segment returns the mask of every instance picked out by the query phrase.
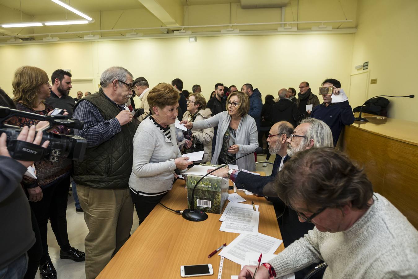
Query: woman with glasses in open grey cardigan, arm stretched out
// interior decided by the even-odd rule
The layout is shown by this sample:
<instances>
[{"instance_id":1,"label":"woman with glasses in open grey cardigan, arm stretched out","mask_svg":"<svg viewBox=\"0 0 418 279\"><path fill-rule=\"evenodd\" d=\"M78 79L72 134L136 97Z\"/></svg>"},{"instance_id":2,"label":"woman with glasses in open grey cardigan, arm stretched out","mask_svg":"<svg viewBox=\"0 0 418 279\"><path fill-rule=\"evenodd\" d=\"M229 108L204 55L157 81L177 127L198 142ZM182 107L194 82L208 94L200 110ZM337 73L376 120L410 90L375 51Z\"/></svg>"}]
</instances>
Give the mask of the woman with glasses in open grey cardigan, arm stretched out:
<instances>
[{"instance_id":1,"label":"woman with glasses in open grey cardigan, arm stretched out","mask_svg":"<svg viewBox=\"0 0 418 279\"><path fill-rule=\"evenodd\" d=\"M186 128L204 129L218 126L216 146L212 154L212 164L226 164L258 147L257 126L248 111L250 99L243 92L233 92L227 98L227 111L211 118L196 122L183 120ZM222 144L221 144L222 143ZM255 158L252 155L238 159L241 169L255 171Z\"/></svg>"}]
</instances>

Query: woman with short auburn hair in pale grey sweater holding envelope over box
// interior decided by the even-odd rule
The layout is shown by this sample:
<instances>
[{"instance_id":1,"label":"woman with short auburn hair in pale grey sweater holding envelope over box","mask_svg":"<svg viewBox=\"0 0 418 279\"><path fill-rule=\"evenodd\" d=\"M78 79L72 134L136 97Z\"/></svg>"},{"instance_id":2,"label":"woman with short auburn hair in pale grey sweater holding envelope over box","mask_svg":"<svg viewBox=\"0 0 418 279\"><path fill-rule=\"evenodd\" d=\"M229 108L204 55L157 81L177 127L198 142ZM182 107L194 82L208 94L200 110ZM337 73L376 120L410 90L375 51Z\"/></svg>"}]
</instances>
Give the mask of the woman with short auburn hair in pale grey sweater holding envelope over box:
<instances>
[{"instance_id":1,"label":"woman with short auburn hair in pale grey sweater holding envelope over box","mask_svg":"<svg viewBox=\"0 0 418 279\"><path fill-rule=\"evenodd\" d=\"M178 92L161 83L147 96L151 116L145 118L133 138L133 165L129 178L131 197L139 224L171 190L175 169L186 169L192 162L181 157L174 122L178 115Z\"/></svg>"}]
</instances>

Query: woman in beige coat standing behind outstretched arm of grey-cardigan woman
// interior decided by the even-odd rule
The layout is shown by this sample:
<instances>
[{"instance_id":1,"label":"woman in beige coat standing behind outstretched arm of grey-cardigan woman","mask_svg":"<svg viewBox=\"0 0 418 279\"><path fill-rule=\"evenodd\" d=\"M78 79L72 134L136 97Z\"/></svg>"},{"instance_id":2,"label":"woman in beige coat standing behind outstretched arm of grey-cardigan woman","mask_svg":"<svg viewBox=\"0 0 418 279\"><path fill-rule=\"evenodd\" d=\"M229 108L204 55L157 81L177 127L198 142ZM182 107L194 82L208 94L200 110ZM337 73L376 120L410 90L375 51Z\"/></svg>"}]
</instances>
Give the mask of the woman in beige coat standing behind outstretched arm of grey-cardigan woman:
<instances>
[{"instance_id":1,"label":"woman in beige coat standing behind outstretched arm of grey-cardigan woman","mask_svg":"<svg viewBox=\"0 0 418 279\"><path fill-rule=\"evenodd\" d=\"M187 111L183 115L183 119L194 122L202 119L208 119L212 115L212 111L206 108L206 99L200 93L189 95L187 100ZM191 130L192 137L203 143L204 154L201 161L195 163L206 163L212 159L212 138L214 135L213 128L194 129Z\"/></svg>"}]
</instances>

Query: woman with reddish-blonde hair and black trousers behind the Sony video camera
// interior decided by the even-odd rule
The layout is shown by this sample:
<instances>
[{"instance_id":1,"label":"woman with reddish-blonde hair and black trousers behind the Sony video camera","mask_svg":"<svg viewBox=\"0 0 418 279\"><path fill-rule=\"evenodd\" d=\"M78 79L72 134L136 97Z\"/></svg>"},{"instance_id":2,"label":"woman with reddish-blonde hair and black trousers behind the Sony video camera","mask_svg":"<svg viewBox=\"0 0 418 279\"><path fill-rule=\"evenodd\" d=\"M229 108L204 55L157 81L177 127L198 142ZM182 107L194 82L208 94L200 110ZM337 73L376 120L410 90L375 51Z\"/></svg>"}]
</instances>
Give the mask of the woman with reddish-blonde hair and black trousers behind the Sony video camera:
<instances>
[{"instance_id":1,"label":"woman with reddish-blonde hair and black trousers behind the Sony video camera","mask_svg":"<svg viewBox=\"0 0 418 279\"><path fill-rule=\"evenodd\" d=\"M45 71L37 67L23 66L16 70L13 78L13 101L16 108L29 113L47 115L53 111L44 100L51 95L51 84ZM19 127L36 125L39 121L23 117L13 117L9 124ZM52 133L69 134L63 125ZM24 177L23 186L28 192L28 199L38 222L41 233L43 255L39 261L42 278L56 277L56 270L48 254L48 219L61 248L61 259L84 261L85 253L70 246L67 233L66 210L70 188L71 159L61 158L51 162L48 159L34 163L37 179Z\"/></svg>"}]
</instances>

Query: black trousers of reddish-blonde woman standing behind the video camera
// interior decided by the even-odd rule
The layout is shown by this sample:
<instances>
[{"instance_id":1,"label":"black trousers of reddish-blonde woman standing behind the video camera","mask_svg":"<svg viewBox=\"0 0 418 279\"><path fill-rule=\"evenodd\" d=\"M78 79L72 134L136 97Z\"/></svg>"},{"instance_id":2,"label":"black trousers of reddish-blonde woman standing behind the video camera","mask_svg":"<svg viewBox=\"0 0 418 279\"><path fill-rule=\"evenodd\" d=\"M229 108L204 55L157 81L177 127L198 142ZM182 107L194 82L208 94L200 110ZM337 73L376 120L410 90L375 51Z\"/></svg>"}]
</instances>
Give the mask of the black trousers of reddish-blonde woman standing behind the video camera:
<instances>
[{"instance_id":1,"label":"black trousers of reddish-blonde woman standing behind the video camera","mask_svg":"<svg viewBox=\"0 0 418 279\"><path fill-rule=\"evenodd\" d=\"M38 222L41 233L43 255L40 263L49 260L48 255L48 219L51 218L51 228L55 234L56 241L63 251L68 251L71 246L67 233L67 203L70 189L70 177L55 182L46 189L43 189L43 198L39 202L29 202Z\"/></svg>"}]
</instances>

